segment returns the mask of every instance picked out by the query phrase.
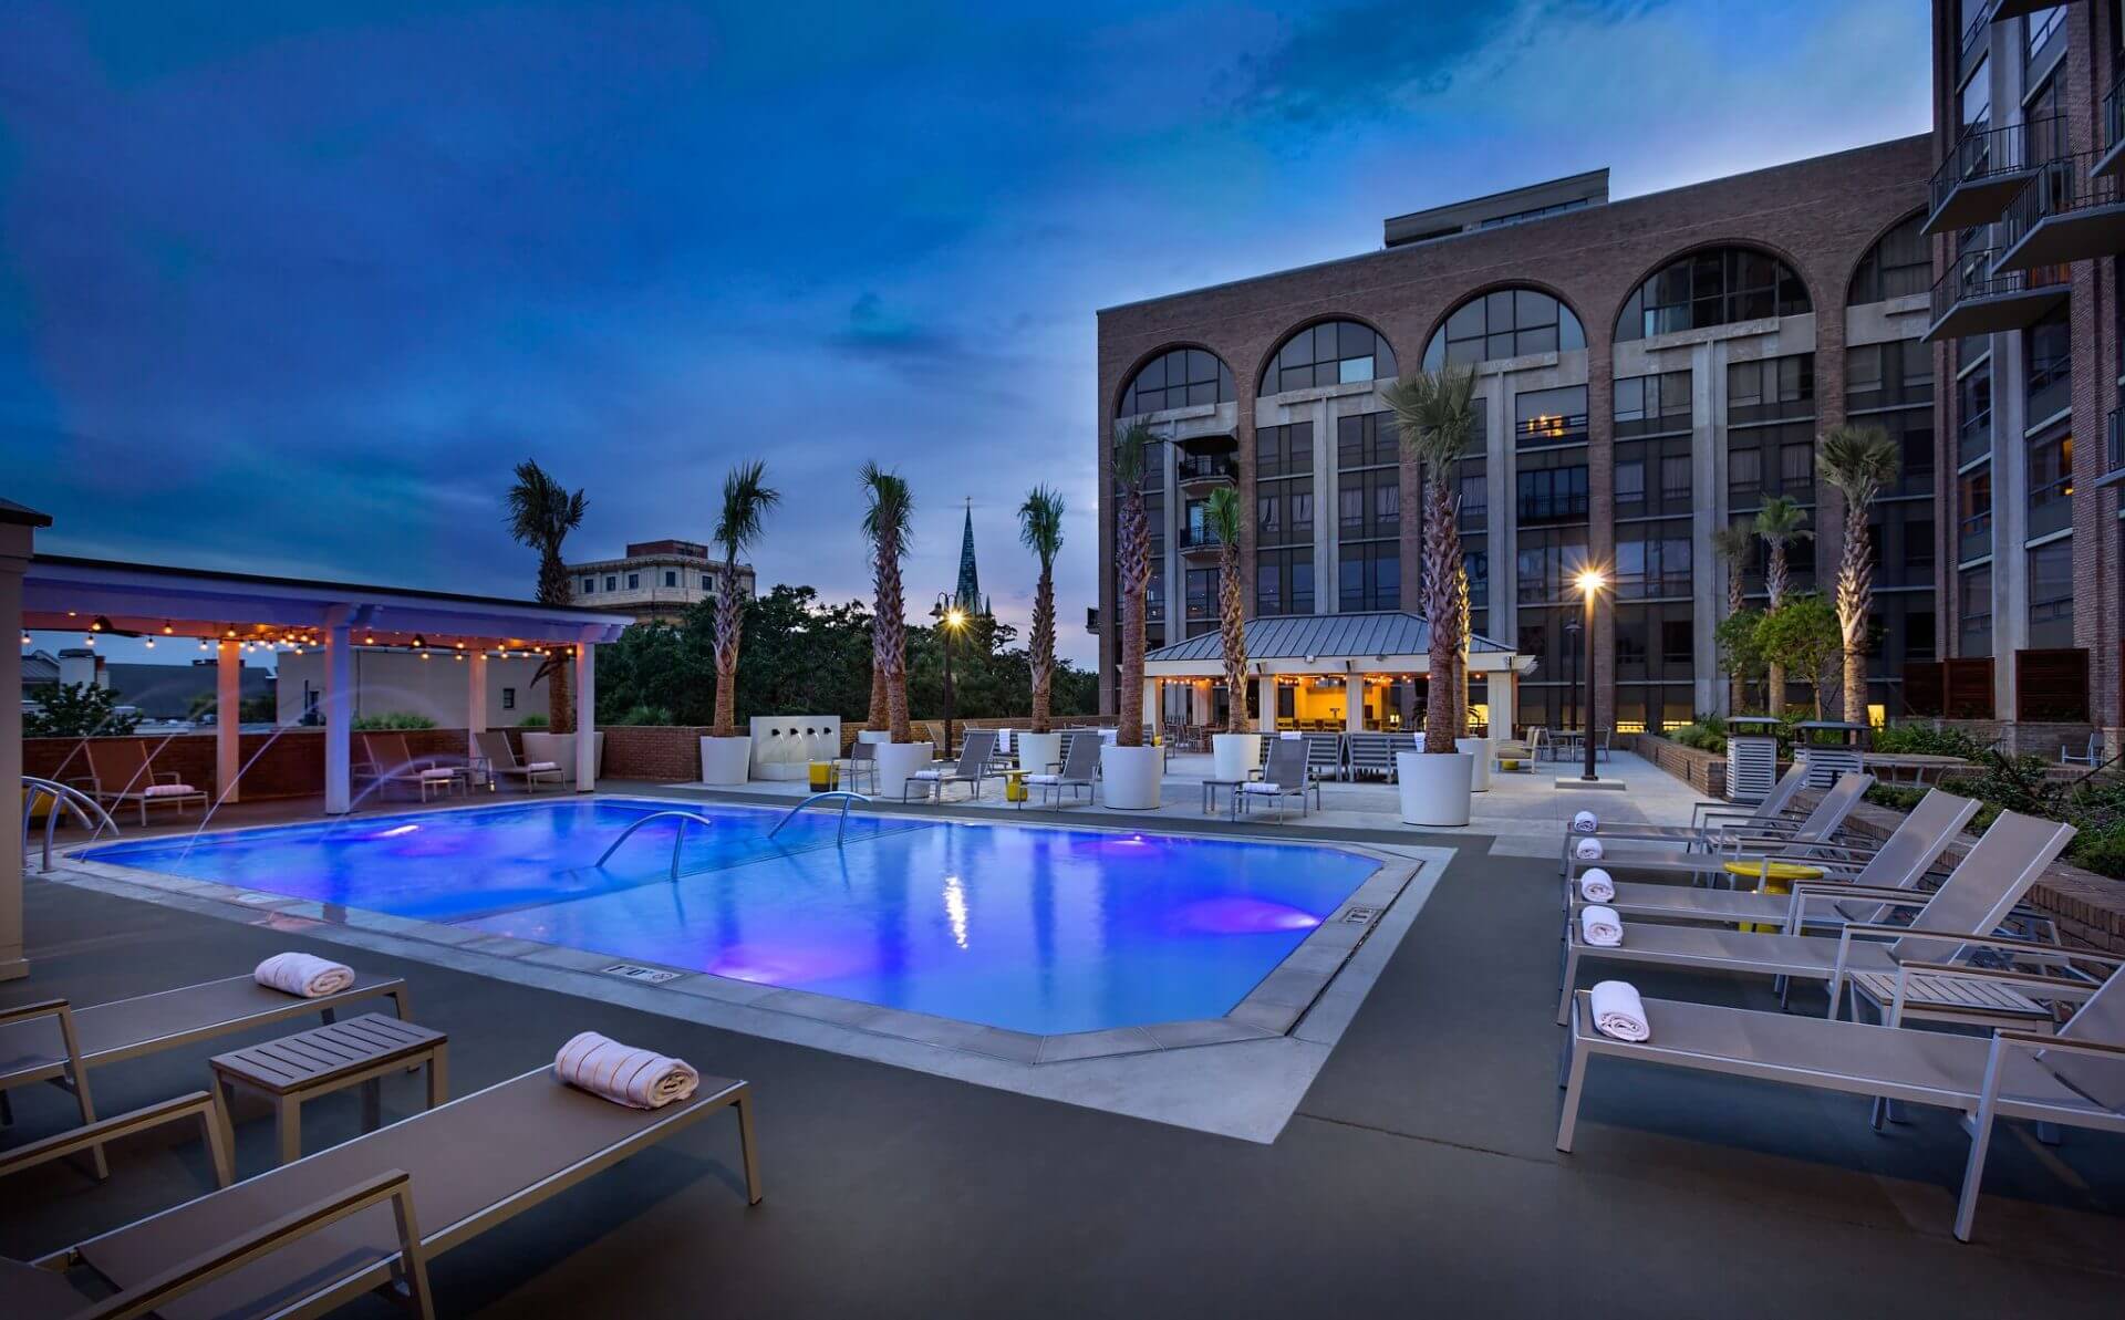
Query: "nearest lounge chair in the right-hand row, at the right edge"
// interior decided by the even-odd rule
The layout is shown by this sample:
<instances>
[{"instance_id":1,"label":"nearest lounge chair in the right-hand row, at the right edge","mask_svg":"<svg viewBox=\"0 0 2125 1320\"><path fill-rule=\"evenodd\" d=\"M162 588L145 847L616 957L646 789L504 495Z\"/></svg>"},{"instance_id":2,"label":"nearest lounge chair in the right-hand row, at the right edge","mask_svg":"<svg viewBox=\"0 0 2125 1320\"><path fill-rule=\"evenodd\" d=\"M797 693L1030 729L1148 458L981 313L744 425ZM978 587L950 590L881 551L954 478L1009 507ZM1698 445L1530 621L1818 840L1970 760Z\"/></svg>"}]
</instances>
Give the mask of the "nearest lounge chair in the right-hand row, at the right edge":
<instances>
[{"instance_id":1,"label":"nearest lounge chair in the right-hand row, at the right edge","mask_svg":"<svg viewBox=\"0 0 2125 1320\"><path fill-rule=\"evenodd\" d=\"M1998 980L1991 974L1976 980L1987 978ZM2017 984L2036 993L2072 993L2063 984L2046 984L2046 978L2021 976ZM1876 1129L1885 1116L1881 1101L1940 1105L1961 1112L1970 1129L1970 1158L1955 1201L1955 1237L1970 1241L1985 1152L1998 1120L2125 1131L2121 974L2112 974L2057 1035L2000 1031L1987 1039L1672 999L1647 999L1645 1020L1647 1039L1621 1042L1596 1031L1585 991L1572 999L1558 1150L1572 1150L1587 1061L1594 1056L1874 1097Z\"/></svg>"}]
</instances>

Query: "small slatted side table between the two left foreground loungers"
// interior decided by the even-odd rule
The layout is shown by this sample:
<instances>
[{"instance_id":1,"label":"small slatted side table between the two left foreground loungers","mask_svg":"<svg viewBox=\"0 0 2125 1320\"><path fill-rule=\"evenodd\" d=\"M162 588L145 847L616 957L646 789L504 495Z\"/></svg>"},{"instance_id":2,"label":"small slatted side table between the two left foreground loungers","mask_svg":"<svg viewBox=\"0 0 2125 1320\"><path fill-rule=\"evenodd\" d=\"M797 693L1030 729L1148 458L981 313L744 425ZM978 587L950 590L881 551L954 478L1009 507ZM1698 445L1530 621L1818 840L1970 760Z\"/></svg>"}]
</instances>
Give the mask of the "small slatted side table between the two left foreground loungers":
<instances>
[{"instance_id":1,"label":"small slatted side table between the two left foreground loungers","mask_svg":"<svg viewBox=\"0 0 2125 1320\"><path fill-rule=\"evenodd\" d=\"M227 1112L246 1086L274 1101L283 1165L302 1158L302 1101L361 1086L361 1131L382 1122L382 1076L427 1065L427 1107L450 1099L450 1037L382 1014L283 1035L261 1046L215 1054L215 1086Z\"/></svg>"}]
</instances>

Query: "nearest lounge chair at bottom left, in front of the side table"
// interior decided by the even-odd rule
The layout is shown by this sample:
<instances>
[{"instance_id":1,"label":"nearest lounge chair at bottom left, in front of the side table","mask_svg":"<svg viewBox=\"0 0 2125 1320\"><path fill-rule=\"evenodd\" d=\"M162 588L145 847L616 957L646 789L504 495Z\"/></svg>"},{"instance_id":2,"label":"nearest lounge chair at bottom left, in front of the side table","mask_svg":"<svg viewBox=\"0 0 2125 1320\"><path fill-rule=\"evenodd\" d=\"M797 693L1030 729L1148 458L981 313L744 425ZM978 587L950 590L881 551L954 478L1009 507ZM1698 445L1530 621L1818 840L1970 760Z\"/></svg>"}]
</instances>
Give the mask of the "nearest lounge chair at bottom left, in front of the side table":
<instances>
[{"instance_id":1,"label":"nearest lounge chair at bottom left, in front of the side table","mask_svg":"<svg viewBox=\"0 0 2125 1320\"><path fill-rule=\"evenodd\" d=\"M746 1082L701 1078L691 1099L629 1110L540 1067L53 1252L38 1271L8 1267L0 1282L11 1286L8 1314L23 1320L147 1309L170 1320L321 1316L393 1284L419 1316L434 1316L431 1258L722 1107L737 1110L746 1201L759 1205ZM119 1299L91 1309L64 1277L74 1269L119 1288Z\"/></svg>"}]
</instances>

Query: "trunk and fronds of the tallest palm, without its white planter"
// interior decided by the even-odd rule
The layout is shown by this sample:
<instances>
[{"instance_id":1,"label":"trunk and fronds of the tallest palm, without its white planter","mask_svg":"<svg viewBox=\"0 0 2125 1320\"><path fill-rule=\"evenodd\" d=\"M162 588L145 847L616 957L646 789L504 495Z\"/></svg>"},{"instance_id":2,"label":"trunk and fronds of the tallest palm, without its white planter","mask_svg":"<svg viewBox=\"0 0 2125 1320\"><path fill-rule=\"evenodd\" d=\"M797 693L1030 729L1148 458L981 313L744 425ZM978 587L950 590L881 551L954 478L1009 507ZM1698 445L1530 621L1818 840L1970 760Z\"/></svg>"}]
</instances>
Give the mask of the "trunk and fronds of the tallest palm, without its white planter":
<instances>
[{"instance_id":1,"label":"trunk and fronds of the tallest palm, without its white planter","mask_svg":"<svg viewBox=\"0 0 2125 1320\"><path fill-rule=\"evenodd\" d=\"M1402 453L1424 472L1424 619L1430 625L1430 682L1424 701L1424 750L1451 752L1454 676L1460 661L1462 585L1454 466L1475 434L1475 372L1417 372L1381 395L1402 434Z\"/></svg>"}]
</instances>

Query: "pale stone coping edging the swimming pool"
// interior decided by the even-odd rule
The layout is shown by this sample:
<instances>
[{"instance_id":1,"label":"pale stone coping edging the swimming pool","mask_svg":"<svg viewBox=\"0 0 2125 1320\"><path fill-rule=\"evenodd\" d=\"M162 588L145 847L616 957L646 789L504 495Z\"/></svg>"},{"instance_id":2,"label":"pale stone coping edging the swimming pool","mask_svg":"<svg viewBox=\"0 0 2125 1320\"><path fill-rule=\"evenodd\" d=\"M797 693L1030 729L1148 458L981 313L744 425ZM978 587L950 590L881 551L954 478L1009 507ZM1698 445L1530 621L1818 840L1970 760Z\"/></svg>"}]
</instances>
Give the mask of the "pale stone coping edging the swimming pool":
<instances>
[{"instance_id":1,"label":"pale stone coping edging the swimming pool","mask_svg":"<svg viewBox=\"0 0 2125 1320\"><path fill-rule=\"evenodd\" d=\"M576 797L574 801L642 801L657 806L688 806L688 803L703 806L699 797L657 797L648 793L599 793L595 797L582 795ZM512 801L465 803L455 808L442 808L442 812L495 810L508 806L525 806L525 801L512 799ZM750 801L731 801L729 806L759 810L756 803ZM436 812L421 812L421 814L425 816ZM391 816L389 814L378 816L376 820L382 818ZM876 818L903 818L903 816L890 812L890 814L876 814ZM1012 827L1009 820L994 820L992 816L980 816L980 814L924 812L920 818L950 823L950 825ZM249 827L219 829L210 833L215 835L259 833L259 831L291 829L302 825L304 823L249 825ZM593 974L627 984L654 986L657 991L663 993L710 999L729 1008L788 1014L795 1018L846 1031L856 1031L863 1035L878 1035L944 1050L984 1054L1005 1063L1048 1065L1048 1063L1082 1063L1088 1059L1114 1059L1126 1054L1150 1054L1150 1052L1196 1048L1196 1046L1269 1042L1292 1035L1292 1031L1298 1027L1305 1014L1322 999L1322 995L1337 980L1337 976L1343 971L1349 959L1373 935L1373 931L1379 927L1388 910L1396 903L1396 899L1409 889L1411 880L1415 880L1415 876L1426 865L1422 859L1400 857L1366 844L1305 837L1305 835L1294 835L1288 840L1243 835L1241 840L1232 833L1222 833L1222 831L1190 831L1182 827L1145 829L1141 825L1101 825L1096 820L1086 820L1084 825L1077 823L1054 825L1043 820L1039 825L1031 823L1020 825L1020 829L1067 829L1080 833L1109 833L1109 835L1158 833L1169 837L1211 837L1220 842L1250 842L1271 848L1328 848L1337 852L1349 852L1354 857L1364 857L1373 861L1375 867L1373 874L1366 876L1358 884L1358 889L1354 889L1349 897L1334 908L1330 916L1322 918L1322 923L1313 927L1313 931L1305 940L1300 940L1298 946L1292 948L1279 963L1275 963L1269 969L1269 974L1262 976L1262 980L1256 982L1256 986L1247 991L1245 997L1241 997L1239 1003L1226 1010L1224 1016L1182 1018L1173 1022L1152 1022L1139 1027L1105 1027L1096 1031L1069 1031L1052 1035L1012 1031L1007 1027L965 1022L958 1018L941 1018L901 1008L865 1003L858 999L839 999L833 995L820 995L816 991L763 986L759 982L725 978L693 967L674 967L669 963L652 963L652 961L631 959L625 954L601 954L565 944L544 944L538 940L523 940L516 935L489 935L446 923L391 916L366 908L323 903L317 899L276 895L257 889L242 889L234 884L221 884L217 880L193 880L187 876L172 876L166 871L128 867L81 857L81 852L94 848L110 848L119 844L83 844L70 848L66 852L66 867L98 880L119 882L151 893L181 897L193 903L208 903L221 908L219 912L221 916L259 920L264 914L272 914L283 920L304 920L323 927L342 927L346 931L368 931L376 935L442 946L448 950L529 963L546 969Z\"/></svg>"}]
</instances>

